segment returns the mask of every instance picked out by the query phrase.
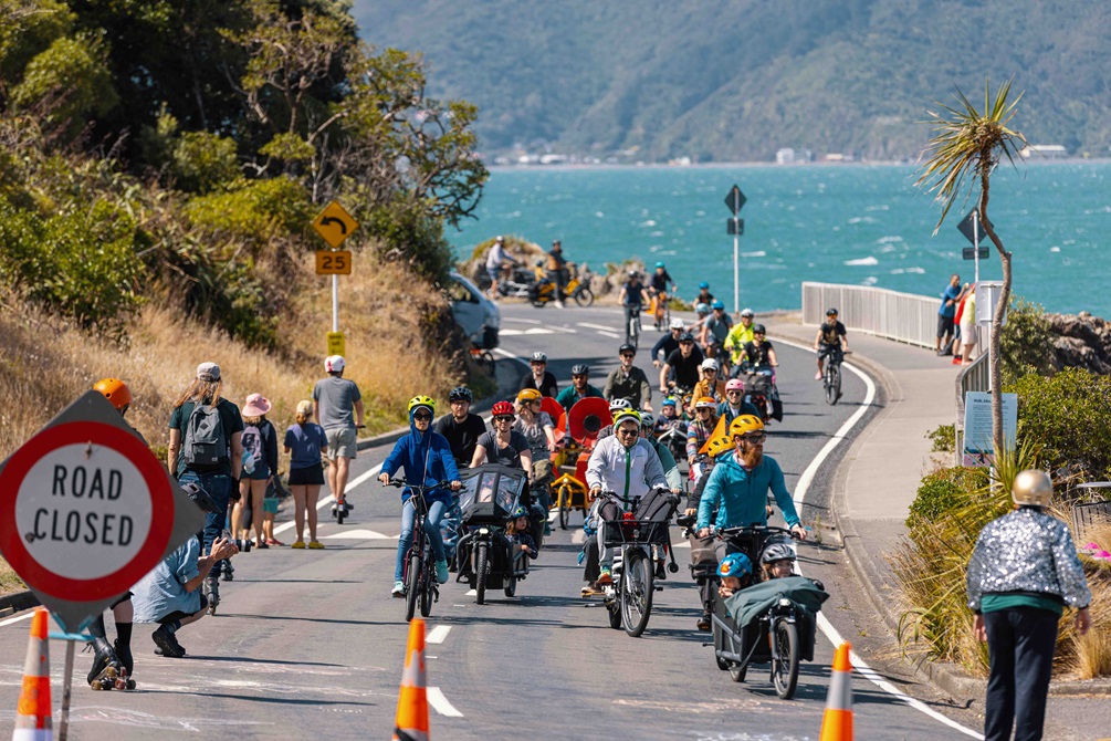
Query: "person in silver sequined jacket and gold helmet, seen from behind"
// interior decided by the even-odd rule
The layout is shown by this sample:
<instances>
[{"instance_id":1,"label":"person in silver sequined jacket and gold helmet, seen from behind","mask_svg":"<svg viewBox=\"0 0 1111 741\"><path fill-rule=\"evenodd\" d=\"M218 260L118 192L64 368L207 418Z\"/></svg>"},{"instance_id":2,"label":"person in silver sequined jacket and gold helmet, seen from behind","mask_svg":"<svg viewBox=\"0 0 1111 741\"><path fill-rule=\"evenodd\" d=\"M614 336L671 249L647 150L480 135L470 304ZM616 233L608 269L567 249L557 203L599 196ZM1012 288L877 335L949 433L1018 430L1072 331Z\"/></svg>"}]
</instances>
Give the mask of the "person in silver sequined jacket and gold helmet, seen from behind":
<instances>
[{"instance_id":1,"label":"person in silver sequined jacket and gold helmet, seen from behind","mask_svg":"<svg viewBox=\"0 0 1111 741\"><path fill-rule=\"evenodd\" d=\"M985 741L1042 738L1058 621L1075 608L1077 632L1091 628L1083 567L1069 528L1044 512L1053 483L1042 471L1022 471L1011 488L1015 511L980 532L968 570L969 608L977 638L988 642L991 673Z\"/></svg>"}]
</instances>

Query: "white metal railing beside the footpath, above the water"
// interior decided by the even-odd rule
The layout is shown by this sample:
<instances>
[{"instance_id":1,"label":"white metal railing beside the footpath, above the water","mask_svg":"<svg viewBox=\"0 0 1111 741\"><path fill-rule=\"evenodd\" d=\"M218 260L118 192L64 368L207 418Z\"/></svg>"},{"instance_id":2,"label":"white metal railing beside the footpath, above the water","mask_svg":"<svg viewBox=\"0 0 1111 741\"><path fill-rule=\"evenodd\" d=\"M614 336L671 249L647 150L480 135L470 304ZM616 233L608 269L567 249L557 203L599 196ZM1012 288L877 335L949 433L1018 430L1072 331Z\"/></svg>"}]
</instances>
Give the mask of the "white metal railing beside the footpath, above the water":
<instances>
[{"instance_id":1,"label":"white metal railing beside the footpath, above the water","mask_svg":"<svg viewBox=\"0 0 1111 741\"><path fill-rule=\"evenodd\" d=\"M802 323L821 324L825 321L825 310L831 307L838 310L838 318L844 326L854 332L923 348L937 344L940 296L933 299L867 286L802 284Z\"/></svg>"}]
</instances>

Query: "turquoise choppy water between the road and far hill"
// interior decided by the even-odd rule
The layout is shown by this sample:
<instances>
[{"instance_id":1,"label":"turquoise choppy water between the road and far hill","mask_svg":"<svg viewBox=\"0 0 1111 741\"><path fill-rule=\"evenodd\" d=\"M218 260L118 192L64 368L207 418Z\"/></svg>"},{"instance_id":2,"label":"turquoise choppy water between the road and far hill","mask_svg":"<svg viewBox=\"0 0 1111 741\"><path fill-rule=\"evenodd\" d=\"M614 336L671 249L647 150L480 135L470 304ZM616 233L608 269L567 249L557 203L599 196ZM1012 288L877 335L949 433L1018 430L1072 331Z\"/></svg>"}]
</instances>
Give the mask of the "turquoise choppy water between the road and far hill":
<instances>
[{"instance_id":1,"label":"turquoise choppy water between the road and far hill","mask_svg":"<svg viewBox=\"0 0 1111 741\"><path fill-rule=\"evenodd\" d=\"M940 296L970 244L953 206L937 236L940 207L913 187L911 166L733 166L496 170L478 220L449 234L460 257L494 234L517 234L601 269L630 257L657 260L690 298L701 280L732 308L733 238L724 198L737 183L741 211L741 304L758 311L800 307L802 281L878 286ZM1015 292L1049 311L1111 317L1111 163L1003 166L992 178L988 214L1014 253ZM991 251L982 280L1001 278Z\"/></svg>"}]
</instances>

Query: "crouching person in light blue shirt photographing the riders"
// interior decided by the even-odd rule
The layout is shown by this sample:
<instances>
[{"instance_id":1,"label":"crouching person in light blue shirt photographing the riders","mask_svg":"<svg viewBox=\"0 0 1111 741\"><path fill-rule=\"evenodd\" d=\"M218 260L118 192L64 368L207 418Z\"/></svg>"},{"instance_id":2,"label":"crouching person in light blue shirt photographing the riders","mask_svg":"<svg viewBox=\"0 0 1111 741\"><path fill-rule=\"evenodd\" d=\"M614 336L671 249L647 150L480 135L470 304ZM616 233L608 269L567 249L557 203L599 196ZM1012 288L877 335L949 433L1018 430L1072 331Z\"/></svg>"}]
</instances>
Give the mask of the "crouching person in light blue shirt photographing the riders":
<instances>
[{"instance_id":1,"label":"crouching person in light blue shirt photographing the riders","mask_svg":"<svg viewBox=\"0 0 1111 741\"><path fill-rule=\"evenodd\" d=\"M181 487L201 511L219 512L219 507L208 492L196 483ZM134 605L134 622L157 622L160 627L151 634L158 645L154 653L173 659L186 655L178 642L177 631L183 625L197 622L208 610L208 598L201 585L219 561L239 552L236 541L227 535L216 539L209 555L201 555L201 543L190 538L176 551L159 561L142 580L132 588L131 603Z\"/></svg>"}]
</instances>

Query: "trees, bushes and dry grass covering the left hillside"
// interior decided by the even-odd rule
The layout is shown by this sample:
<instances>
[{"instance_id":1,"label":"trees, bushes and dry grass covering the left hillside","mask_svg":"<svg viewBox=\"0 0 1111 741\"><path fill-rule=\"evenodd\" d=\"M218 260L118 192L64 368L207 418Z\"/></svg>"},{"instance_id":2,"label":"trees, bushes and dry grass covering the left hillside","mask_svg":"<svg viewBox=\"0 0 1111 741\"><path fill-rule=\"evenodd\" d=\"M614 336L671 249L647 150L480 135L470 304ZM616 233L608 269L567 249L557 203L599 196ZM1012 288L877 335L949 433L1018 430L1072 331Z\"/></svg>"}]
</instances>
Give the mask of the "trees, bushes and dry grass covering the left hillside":
<instances>
[{"instance_id":1,"label":"trees, bushes and dry grass covering the left hillside","mask_svg":"<svg viewBox=\"0 0 1111 741\"><path fill-rule=\"evenodd\" d=\"M361 43L339 0L0 0L0 454L98 378L164 442L196 366L284 425L322 375L329 279L310 222L361 223L340 278L369 423L464 372L438 290L446 226L487 171L476 109ZM414 370L398 377L399 353Z\"/></svg>"}]
</instances>

